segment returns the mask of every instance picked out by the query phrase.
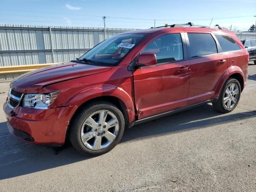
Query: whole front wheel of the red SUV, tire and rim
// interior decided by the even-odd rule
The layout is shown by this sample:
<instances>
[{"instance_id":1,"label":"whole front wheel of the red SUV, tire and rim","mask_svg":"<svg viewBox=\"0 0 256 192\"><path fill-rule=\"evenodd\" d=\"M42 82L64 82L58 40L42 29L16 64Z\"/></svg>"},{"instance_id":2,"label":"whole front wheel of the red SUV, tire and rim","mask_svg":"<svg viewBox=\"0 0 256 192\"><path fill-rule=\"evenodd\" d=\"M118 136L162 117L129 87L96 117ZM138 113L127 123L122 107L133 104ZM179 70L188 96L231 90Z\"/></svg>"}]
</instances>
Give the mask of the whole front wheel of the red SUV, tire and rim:
<instances>
[{"instance_id":1,"label":"whole front wheel of the red SUV, tire and rim","mask_svg":"<svg viewBox=\"0 0 256 192\"><path fill-rule=\"evenodd\" d=\"M124 116L110 102L94 102L79 110L70 125L70 141L84 155L109 152L121 140Z\"/></svg>"}]
</instances>

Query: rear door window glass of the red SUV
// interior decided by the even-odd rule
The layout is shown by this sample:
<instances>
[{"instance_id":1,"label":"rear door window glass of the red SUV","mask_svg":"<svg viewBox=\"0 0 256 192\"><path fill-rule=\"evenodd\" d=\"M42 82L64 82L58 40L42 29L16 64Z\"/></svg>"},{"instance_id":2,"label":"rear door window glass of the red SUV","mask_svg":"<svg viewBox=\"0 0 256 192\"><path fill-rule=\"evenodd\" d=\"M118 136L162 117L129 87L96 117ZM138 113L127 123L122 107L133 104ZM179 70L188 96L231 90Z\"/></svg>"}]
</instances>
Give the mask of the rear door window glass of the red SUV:
<instances>
[{"instance_id":1,"label":"rear door window glass of the red SUV","mask_svg":"<svg viewBox=\"0 0 256 192\"><path fill-rule=\"evenodd\" d=\"M217 53L214 38L208 33L188 33L191 57Z\"/></svg>"}]
</instances>

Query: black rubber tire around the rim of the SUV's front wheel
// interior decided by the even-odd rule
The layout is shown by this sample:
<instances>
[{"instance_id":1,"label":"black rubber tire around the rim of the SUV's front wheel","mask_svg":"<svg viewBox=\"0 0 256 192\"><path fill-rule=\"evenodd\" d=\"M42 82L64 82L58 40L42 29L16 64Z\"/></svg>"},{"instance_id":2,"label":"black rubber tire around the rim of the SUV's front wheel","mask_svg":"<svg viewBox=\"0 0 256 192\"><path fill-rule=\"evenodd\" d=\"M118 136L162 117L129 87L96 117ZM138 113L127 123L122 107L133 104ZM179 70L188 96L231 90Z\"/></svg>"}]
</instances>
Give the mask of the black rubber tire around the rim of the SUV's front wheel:
<instances>
[{"instance_id":1,"label":"black rubber tire around the rim of the SUV's front wheel","mask_svg":"<svg viewBox=\"0 0 256 192\"><path fill-rule=\"evenodd\" d=\"M83 144L80 132L86 118L98 110L108 110L112 112L118 119L119 130L115 140L109 146L100 150L91 150ZM117 106L107 101L97 101L84 106L76 112L70 124L69 139L74 148L81 154L86 156L98 156L109 152L118 144L124 133L124 126L124 116Z\"/></svg>"}]
</instances>

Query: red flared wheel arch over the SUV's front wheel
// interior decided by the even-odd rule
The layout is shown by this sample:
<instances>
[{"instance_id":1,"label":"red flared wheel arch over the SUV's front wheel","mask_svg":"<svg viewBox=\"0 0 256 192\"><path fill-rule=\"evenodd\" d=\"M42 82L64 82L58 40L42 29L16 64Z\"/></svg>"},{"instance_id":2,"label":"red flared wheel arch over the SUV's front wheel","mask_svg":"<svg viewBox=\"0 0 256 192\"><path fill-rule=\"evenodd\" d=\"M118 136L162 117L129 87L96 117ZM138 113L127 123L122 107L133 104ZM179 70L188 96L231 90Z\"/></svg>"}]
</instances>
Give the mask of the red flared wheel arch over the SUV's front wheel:
<instances>
[{"instance_id":1,"label":"red flared wheel arch over the SUV's front wheel","mask_svg":"<svg viewBox=\"0 0 256 192\"><path fill-rule=\"evenodd\" d=\"M110 85L110 84L103 84L103 85L93 85L90 87L86 87L73 96L71 96L66 103L65 106L80 106L84 102L101 97L101 96L113 96L116 97L125 104L129 122L133 122L135 120L135 110L134 110L134 103L133 99L124 89Z\"/></svg>"}]
</instances>

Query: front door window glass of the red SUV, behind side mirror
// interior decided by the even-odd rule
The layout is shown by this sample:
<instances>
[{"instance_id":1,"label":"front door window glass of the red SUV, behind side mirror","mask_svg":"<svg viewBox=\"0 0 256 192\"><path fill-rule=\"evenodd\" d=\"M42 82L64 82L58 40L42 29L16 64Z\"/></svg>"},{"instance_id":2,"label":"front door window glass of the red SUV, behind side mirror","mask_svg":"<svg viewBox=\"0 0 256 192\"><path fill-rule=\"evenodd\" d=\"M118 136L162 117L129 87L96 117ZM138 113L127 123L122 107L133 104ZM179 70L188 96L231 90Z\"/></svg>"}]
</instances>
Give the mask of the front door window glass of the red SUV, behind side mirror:
<instances>
[{"instance_id":1,"label":"front door window glass of the red SUV, behind side mirror","mask_svg":"<svg viewBox=\"0 0 256 192\"><path fill-rule=\"evenodd\" d=\"M156 54L157 63L183 59L183 48L180 34L163 35L148 44L141 53Z\"/></svg>"}]
</instances>

